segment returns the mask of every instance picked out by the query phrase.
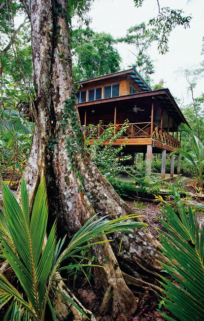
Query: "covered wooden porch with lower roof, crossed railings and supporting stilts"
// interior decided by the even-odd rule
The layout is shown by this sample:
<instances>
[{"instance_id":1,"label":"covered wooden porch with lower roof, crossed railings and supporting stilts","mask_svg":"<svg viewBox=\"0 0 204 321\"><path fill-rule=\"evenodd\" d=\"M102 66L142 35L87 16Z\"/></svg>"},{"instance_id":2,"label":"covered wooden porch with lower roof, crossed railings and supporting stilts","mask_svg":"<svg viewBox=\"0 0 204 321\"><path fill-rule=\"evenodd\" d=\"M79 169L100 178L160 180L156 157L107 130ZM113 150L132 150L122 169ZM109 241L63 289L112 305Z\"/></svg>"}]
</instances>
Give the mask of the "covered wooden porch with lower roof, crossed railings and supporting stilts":
<instances>
[{"instance_id":1,"label":"covered wooden porch with lower roof, crossed railings and supporting stilts","mask_svg":"<svg viewBox=\"0 0 204 321\"><path fill-rule=\"evenodd\" d=\"M153 153L162 154L162 177L165 177L166 153L180 147L178 126L186 120L168 89L135 93L78 104L82 129L88 144L93 144L107 127L111 135L103 145L125 145L129 152L145 154L147 173L151 173ZM128 123L128 124L127 124ZM117 134L121 131L120 135ZM115 139L113 139L115 137ZM172 156L173 176L174 156ZM177 173L180 171L180 159Z\"/></svg>"}]
</instances>

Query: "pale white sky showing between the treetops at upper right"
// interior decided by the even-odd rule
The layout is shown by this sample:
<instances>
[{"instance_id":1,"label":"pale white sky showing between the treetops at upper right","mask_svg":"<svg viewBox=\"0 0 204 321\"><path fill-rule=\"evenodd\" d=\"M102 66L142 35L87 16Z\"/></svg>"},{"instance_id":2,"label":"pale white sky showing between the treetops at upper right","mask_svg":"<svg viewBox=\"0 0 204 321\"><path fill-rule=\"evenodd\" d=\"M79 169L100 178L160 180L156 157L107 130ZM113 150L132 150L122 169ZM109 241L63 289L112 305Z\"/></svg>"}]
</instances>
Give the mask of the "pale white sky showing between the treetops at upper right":
<instances>
[{"instance_id":1,"label":"pale white sky showing between the treetops at upper right","mask_svg":"<svg viewBox=\"0 0 204 321\"><path fill-rule=\"evenodd\" d=\"M190 102L187 94L187 83L179 69L190 68L204 60L201 55L202 39L204 36L204 0L160 0L161 6L183 9L185 15L192 14L190 29L176 27L169 38L169 52L159 54L157 44L149 50L154 60L155 74L153 80L158 83L164 79L165 87L172 95L181 99L184 104ZM158 13L156 0L145 0L141 8L136 8L134 0L95 0L89 15L92 18L90 27L95 32L109 33L115 38L125 36L131 26L148 23L149 19ZM122 57L121 70L128 69L134 62L130 52L134 48L127 44L117 44ZM195 95L204 92L204 78L198 82Z\"/></svg>"}]
</instances>

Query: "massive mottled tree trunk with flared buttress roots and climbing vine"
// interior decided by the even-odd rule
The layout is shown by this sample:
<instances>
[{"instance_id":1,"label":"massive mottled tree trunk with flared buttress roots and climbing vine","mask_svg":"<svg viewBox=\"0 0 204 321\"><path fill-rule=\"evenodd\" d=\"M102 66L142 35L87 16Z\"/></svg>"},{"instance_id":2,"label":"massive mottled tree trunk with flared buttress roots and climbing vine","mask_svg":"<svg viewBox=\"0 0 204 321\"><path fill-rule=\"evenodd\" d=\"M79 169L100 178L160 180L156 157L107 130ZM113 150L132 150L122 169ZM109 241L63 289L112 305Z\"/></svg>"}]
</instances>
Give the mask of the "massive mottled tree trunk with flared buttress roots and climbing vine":
<instances>
[{"instance_id":1,"label":"massive mottled tree trunk with flared buttress roots and climbing vine","mask_svg":"<svg viewBox=\"0 0 204 321\"><path fill-rule=\"evenodd\" d=\"M30 1L37 110L24 177L31 207L40 177L46 177L50 214L53 218L59 214L63 232L71 237L95 213L113 218L129 214L130 209L84 151L77 106L72 99L67 10L67 0ZM112 316L112 320L118 320L119 314L132 315L137 307L114 252L139 278L153 276L160 269L158 243L146 229L124 236L118 254L120 241L118 233L112 247L109 243L94 247L104 266L97 274L97 283L103 289L101 313Z\"/></svg>"}]
</instances>

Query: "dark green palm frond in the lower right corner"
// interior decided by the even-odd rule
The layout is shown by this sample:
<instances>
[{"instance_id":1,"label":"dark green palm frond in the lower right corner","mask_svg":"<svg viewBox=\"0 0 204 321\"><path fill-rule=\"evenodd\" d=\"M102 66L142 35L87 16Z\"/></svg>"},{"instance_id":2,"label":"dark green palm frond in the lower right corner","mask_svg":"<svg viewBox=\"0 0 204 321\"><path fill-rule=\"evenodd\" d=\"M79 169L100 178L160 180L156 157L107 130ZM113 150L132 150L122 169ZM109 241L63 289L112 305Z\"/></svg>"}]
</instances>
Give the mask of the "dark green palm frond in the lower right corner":
<instances>
[{"instance_id":1,"label":"dark green palm frond in the lower right corner","mask_svg":"<svg viewBox=\"0 0 204 321\"><path fill-rule=\"evenodd\" d=\"M166 229L160 242L166 263L161 262L169 277L163 277L161 302L176 320L202 321L204 318L204 227L197 222L197 212L172 189L174 210L163 203L160 222ZM172 280L173 278L173 280ZM165 319L173 321L162 313Z\"/></svg>"}]
</instances>

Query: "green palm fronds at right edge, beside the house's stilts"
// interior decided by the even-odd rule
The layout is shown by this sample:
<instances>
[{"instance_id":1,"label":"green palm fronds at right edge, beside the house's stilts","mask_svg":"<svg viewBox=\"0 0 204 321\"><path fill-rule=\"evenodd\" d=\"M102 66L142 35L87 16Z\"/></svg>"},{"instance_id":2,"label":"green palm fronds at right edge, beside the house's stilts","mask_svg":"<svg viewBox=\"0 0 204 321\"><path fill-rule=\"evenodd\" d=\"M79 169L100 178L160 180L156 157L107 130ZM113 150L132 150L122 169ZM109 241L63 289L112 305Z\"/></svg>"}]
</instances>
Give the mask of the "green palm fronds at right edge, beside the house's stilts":
<instances>
[{"instance_id":1,"label":"green palm fronds at right edge, beside the house's stilts","mask_svg":"<svg viewBox=\"0 0 204 321\"><path fill-rule=\"evenodd\" d=\"M204 178L204 145L186 124L181 124L178 127L178 130L184 131L190 135L192 139L192 148L189 151L179 148L172 154L181 154L184 159L192 165L197 184L198 186L201 186Z\"/></svg>"}]
</instances>

